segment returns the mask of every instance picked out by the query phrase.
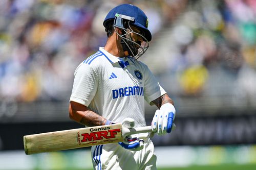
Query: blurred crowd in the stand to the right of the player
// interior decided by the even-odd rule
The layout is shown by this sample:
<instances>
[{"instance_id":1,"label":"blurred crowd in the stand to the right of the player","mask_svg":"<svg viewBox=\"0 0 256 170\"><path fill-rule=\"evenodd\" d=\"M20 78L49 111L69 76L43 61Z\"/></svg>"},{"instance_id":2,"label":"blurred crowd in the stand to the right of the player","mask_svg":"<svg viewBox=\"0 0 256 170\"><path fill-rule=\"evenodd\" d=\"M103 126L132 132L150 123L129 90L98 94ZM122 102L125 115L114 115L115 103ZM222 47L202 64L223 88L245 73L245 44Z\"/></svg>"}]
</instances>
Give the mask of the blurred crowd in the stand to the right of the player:
<instances>
[{"instance_id":1,"label":"blurred crowd in the stand to the right of the player","mask_svg":"<svg viewBox=\"0 0 256 170\"><path fill-rule=\"evenodd\" d=\"M233 98L240 104L255 99L256 1L188 2L154 48L161 59L152 56L159 65L153 68L165 89L177 97Z\"/></svg>"}]
</instances>

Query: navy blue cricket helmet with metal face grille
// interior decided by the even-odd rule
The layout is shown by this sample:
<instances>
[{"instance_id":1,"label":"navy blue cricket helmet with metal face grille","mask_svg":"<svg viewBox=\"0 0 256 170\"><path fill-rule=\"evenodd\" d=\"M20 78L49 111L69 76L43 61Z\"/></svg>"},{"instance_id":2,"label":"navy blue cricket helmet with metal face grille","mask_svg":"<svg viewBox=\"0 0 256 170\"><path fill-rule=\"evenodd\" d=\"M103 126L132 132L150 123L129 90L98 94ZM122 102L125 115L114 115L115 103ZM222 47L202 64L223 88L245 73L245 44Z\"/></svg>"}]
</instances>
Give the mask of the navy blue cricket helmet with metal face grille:
<instances>
[{"instance_id":1,"label":"navy blue cricket helmet with metal face grille","mask_svg":"<svg viewBox=\"0 0 256 170\"><path fill-rule=\"evenodd\" d=\"M151 41L152 35L150 30L147 29L147 16L141 9L131 4L119 5L106 15L103 26L106 27L109 21L112 21L114 28L123 30L122 34L116 33L121 37L121 44L123 45L124 51L129 52L129 55L135 60L145 53L148 48L148 41ZM134 32L131 26L136 27L141 32ZM145 43L142 45L133 41L131 33L141 36Z\"/></svg>"}]
</instances>

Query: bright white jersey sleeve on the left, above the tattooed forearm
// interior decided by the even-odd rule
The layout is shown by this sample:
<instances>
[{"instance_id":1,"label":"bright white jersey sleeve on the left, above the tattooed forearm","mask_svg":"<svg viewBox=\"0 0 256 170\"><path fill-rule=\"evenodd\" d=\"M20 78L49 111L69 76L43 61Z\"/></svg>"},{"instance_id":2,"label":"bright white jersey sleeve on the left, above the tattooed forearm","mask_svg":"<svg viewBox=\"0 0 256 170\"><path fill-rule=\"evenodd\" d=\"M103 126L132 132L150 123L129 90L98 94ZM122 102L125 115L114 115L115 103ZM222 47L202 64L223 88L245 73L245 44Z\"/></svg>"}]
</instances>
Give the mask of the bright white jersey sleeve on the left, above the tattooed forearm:
<instances>
[{"instance_id":1,"label":"bright white jersey sleeve on the left, above the tattooed forearm","mask_svg":"<svg viewBox=\"0 0 256 170\"><path fill-rule=\"evenodd\" d=\"M98 75L93 67L81 63L74 76L70 101L89 106L98 88Z\"/></svg>"}]
</instances>

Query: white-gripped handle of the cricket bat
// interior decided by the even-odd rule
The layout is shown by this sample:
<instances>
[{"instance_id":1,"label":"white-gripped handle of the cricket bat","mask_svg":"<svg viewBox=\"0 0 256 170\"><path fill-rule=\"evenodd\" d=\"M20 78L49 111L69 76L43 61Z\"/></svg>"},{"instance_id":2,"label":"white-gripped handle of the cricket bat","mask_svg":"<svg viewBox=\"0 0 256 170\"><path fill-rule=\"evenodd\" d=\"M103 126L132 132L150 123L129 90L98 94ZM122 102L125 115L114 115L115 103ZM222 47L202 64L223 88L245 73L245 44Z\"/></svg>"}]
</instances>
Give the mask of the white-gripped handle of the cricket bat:
<instances>
[{"instance_id":1,"label":"white-gripped handle of the cricket bat","mask_svg":"<svg viewBox=\"0 0 256 170\"><path fill-rule=\"evenodd\" d=\"M175 130L176 125L173 124L172 130ZM122 126L122 135L123 138L129 135L137 134L137 133L146 133L146 132L153 132L151 126L145 126L145 127L137 127L137 128L125 128Z\"/></svg>"}]
</instances>

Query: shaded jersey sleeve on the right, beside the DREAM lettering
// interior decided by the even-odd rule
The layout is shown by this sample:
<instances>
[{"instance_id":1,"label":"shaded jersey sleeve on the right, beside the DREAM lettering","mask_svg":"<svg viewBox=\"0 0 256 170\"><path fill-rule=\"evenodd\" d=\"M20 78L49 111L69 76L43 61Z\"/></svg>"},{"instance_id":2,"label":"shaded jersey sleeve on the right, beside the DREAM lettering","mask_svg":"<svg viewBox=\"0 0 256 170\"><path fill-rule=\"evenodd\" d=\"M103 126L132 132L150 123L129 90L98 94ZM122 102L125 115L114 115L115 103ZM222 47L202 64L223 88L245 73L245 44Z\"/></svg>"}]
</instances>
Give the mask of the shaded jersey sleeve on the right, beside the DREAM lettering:
<instances>
[{"instance_id":1,"label":"shaded jersey sleeve on the right, beside the DREAM lettering","mask_svg":"<svg viewBox=\"0 0 256 170\"><path fill-rule=\"evenodd\" d=\"M151 70L145 68L145 84L144 84L144 99L150 105L154 105L152 101L165 94L166 91L160 86Z\"/></svg>"}]
</instances>

